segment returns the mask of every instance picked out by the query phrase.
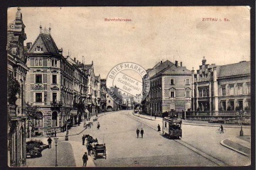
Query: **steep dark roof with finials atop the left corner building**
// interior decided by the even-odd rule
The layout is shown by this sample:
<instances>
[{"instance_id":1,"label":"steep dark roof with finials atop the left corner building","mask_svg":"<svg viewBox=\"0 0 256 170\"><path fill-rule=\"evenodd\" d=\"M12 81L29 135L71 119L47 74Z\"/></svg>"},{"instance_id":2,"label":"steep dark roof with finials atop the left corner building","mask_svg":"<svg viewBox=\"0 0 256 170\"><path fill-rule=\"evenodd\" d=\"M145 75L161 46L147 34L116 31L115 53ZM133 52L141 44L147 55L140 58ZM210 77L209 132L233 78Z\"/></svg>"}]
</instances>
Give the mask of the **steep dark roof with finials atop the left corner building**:
<instances>
[{"instance_id":1,"label":"steep dark roof with finials atop the left corner building","mask_svg":"<svg viewBox=\"0 0 256 170\"><path fill-rule=\"evenodd\" d=\"M37 47L40 47L41 51L38 52L36 50ZM40 33L32 47L28 50L28 54L59 55L59 52L52 36L48 33Z\"/></svg>"}]
</instances>

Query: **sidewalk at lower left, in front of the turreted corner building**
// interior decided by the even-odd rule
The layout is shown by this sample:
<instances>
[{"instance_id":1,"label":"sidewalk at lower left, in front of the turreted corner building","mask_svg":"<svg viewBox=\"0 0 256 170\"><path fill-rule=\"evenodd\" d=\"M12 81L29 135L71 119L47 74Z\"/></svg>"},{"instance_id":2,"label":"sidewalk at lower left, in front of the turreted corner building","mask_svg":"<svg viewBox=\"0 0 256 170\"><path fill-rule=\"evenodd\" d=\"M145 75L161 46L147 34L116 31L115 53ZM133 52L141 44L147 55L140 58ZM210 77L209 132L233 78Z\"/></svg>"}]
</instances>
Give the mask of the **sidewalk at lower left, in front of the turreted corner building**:
<instances>
[{"instance_id":1,"label":"sidewalk at lower left, in front of the turreted corner building","mask_svg":"<svg viewBox=\"0 0 256 170\"><path fill-rule=\"evenodd\" d=\"M97 118L101 117L102 115L106 115L111 112L107 113L99 113ZM91 116L91 120L95 120L96 115ZM80 123L80 125L74 125L70 130L68 130L68 136L73 135L80 135L82 132L84 132L86 128L84 128L83 121ZM66 132L58 132L58 166L75 166L75 167L81 167L82 166L82 155L84 152L82 151L81 147L78 147L81 145L81 142L78 141L65 141L65 135ZM54 138L54 137L52 137ZM32 137L31 139L26 138L26 142L29 140L41 140L44 144L48 145L48 137ZM28 167L51 167L55 166L55 159L52 159L55 157L55 143L54 140L52 142L53 149L44 149L42 154L42 157L35 158L35 159L27 159L28 160ZM85 152L87 152L87 149L85 149ZM68 154L72 154L68 156ZM88 161L87 161L88 167L94 167L95 164L93 162L93 157L88 155Z\"/></svg>"}]
</instances>

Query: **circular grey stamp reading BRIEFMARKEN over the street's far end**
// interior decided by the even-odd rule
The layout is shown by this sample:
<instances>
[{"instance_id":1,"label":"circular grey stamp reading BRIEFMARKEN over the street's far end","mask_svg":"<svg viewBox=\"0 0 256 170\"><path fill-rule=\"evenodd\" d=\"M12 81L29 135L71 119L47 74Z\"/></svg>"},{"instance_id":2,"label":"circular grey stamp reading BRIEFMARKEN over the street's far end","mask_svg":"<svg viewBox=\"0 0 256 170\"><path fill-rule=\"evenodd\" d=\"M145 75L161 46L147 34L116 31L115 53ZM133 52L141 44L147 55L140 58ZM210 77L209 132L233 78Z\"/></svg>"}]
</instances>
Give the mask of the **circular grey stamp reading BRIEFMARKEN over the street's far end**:
<instances>
[{"instance_id":1,"label":"circular grey stamp reading BRIEFMARKEN over the street's far end","mask_svg":"<svg viewBox=\"0 0 256 170\"><path fill-rule=\"evenodd\" d=\"M107 94L120 106L135 108L149 94L149 75L139 64L122 62L107 74Z\"/></svg>"}]
</instances>

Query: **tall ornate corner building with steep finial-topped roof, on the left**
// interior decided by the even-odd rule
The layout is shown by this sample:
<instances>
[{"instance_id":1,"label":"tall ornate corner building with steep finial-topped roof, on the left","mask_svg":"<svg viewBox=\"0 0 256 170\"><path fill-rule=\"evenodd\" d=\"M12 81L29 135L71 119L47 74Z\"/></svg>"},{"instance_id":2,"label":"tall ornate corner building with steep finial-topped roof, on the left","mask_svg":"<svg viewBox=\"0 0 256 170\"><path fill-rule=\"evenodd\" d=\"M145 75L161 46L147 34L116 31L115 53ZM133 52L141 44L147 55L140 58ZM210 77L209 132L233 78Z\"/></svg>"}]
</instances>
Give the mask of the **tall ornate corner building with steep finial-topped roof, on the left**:
<instances>
[{"instance_id":1,"label":"tall ornate corner building with steep finial-topped roof, on the left","mask_svg":"<svg viewBox=\"0 0 256 170\"><path fill-rule=\"evenodd\" d=\"M40 34L26 53L30 72L27 76L27 101L38 106L33 135L65 130L68 123L79 123L84 113L87 73L80 63L63 57L48 30Z\"/></svg>"}]
</instances>

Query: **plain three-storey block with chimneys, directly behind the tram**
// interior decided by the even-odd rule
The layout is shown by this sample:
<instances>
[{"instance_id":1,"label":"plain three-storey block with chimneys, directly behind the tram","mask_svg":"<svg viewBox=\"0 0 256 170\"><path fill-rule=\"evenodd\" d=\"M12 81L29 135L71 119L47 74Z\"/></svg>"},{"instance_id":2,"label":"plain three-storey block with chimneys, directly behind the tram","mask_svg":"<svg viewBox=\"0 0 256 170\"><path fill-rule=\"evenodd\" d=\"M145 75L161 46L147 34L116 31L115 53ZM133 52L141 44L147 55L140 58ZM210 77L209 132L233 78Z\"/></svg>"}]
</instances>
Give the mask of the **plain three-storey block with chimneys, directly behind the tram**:
<instances>
[{"instance_id":1,"label":"plain three-storey block with chimneys, directly behind the tram","mask_svg":"<svg viewBox=\"0 0 256 170\"><path fill-rule=\"evenodd\" d=\"M166 60L147 73L150 79L146 112L161 116L164 112L185 112L191 108L191 71Z\"/></svg>"}]
</instances>

